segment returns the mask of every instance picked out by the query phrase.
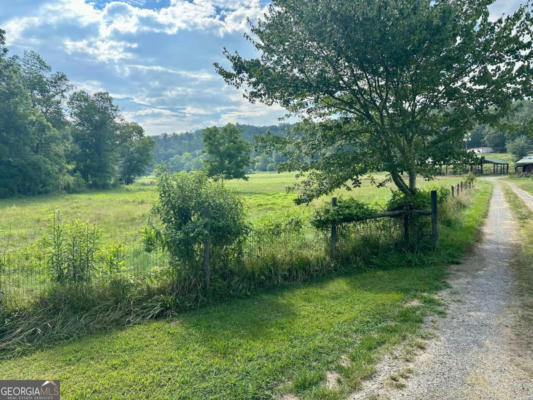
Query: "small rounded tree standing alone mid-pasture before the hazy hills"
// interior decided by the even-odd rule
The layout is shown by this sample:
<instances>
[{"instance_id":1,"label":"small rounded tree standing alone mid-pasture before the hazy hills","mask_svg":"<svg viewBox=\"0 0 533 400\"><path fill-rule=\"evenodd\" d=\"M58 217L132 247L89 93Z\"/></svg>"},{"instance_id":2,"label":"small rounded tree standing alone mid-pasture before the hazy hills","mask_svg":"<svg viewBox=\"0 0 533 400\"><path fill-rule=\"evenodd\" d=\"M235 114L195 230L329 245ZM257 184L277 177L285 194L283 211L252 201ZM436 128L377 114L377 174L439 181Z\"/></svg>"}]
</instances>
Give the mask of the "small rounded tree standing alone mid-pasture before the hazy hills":
<instances>
[{"instance_id":1,"label":"small rounded tree standing alone mid-pasture before the hazy hills","mask_svg":"<svg viewBox=\"0 0 533 400\"><path fill-rule=\"evenodd\" d=\"M235 125L227 124L222 129L207 128L203 131L203 141L207 154L204 166L210 177L223 179L244 179L250 165L252 146L242 138Z\"/></svg>"}]
</instances>

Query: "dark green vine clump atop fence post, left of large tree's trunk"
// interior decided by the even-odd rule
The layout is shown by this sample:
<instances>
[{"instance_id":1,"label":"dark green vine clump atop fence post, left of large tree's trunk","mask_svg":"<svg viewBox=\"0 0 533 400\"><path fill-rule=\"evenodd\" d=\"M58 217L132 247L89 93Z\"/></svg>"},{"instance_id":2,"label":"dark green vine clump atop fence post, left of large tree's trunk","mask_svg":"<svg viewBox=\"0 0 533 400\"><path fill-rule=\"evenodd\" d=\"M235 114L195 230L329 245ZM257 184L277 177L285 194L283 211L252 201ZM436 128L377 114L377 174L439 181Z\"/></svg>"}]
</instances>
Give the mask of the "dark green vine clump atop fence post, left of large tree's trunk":
<instances>
[{"instance_id":1,"label":"dark green vine clump atop fence post, left of large tree's trunk","mask_svg":"<svg viewBox=\"0 0 533 400\"><path fill-rule=\"evenodd\" d=\"M339 199L337 206L325 204L318 208L311 220L311 224L320 230L331 228L349 222L370 219L378 214L378 210L366 203L355 199Z\"/></svg>"}]
</instances>

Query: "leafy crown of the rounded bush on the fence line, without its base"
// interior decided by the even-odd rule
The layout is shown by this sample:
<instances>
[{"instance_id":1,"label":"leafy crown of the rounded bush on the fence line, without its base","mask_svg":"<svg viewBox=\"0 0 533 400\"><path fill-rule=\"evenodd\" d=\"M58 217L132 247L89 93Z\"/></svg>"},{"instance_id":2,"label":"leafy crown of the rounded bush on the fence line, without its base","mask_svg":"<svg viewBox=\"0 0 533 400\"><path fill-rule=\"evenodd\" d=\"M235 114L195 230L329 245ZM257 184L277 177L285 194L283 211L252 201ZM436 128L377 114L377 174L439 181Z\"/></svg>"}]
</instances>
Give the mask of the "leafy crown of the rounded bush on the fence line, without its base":
<instances>
[{"instance_id":1,"label":"leafy crown of the rounded bush on the fence line, without its base","mask_svg":"<svg viewBox=\"0 0 533 400\"><path fill-rule=\"evenodd\" d=\"M248 231L242 201L201 172L162 172L158 194L153 214L160 225L145 230L145 243L149 248L157 241L176 271L198 276L206 241L215 251L232 252Z\"/></svg>"}]
</instances>

